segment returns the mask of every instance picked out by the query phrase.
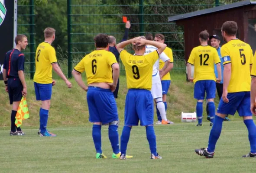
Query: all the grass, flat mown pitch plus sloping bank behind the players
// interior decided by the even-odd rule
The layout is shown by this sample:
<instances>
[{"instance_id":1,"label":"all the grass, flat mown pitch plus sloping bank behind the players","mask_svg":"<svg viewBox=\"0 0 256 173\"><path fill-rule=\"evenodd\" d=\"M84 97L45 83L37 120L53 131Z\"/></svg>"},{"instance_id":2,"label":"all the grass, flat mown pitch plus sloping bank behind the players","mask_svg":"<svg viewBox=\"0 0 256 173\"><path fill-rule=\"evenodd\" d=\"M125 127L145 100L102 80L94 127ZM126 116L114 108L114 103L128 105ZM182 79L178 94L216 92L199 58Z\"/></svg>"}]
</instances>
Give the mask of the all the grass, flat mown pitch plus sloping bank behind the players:
<instances>
[{"instance_id":1,"label":"all the grass, flat mown pitch plus sloping bank behind the players","mask_svg":"<svg viewBox=\"0 0 256 173\"><path fill-rule=\"evenodd\" d=\"M54 75L55 76L55 75ZM131 131L127 154L129 160L113 160L108 140L107 126L102 128L102 149L107 159L96 160L88 123L86 92L71 79L73 88L68 89L62 80L57 79L53 87L52 105L49 112L49 130L55 138L39 138L40 103L36 101L32 80L28 85L27 102L30 119L23 122L26 136L13 137L10 133L10 110L8 94L0 92L0 173L84 173L84 172L123 172L123 173L240 173L255 172L254 159L241 158L250 151L245 125L238 116L231 116L231 122L224 127L213 159L205 159L194 153L195 148L207 147L211 130L204 116L204 126L196 123L180 123L181 112L194 112L196 100L193 98L193 83L185 82L185 74L172 74L172 84L168 95L168 119L174 125L156 125L157 147L162 160L150 160L149 145L143 127ZM0 83L3 91L3 83ZM126 78L120 77L117 106L123 129L123 113ZM218 101L216 101L216 104ZM205 104L204 104L205 107ZM204 115L205 111L204 111ZM156 118L155 118L156 119ZM151 163L152 162L152 163Z\"/></svg>"}]
</instances>

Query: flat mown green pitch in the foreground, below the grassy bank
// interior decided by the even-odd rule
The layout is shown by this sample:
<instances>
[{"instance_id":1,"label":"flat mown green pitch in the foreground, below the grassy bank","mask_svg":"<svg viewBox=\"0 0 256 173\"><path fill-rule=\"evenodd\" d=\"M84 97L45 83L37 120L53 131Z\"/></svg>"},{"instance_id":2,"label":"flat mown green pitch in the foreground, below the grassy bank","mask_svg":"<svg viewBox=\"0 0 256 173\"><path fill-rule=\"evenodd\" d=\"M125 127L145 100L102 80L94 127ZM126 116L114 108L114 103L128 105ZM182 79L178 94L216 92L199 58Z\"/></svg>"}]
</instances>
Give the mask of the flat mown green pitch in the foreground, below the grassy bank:
<instances>
[{"instance_id":1,"label":"flat mown green pitch in the foreground, below the grassy bank","mask_svg":"<svg viewBox=\"0 0 256 173\"><path fill-rule=\"evenodd\" d=\"M107 159L96 160L91 126L50 128L58 136L40 138L37 128L24 127L26 136L9 136L9 128L0 130L0 172L10 173L242 173L255 172L255 159L241 158L250 151L246 126L242 121L224 122L213 159L194 153L207 147L209 122L156 125L157 149L162 160L150 160L146 131L133 127L127 154L132 159L114 160L107 126L102 128L102 149ZM123 125L120 125L119 134Z\"/></svg>"}]
</instances>

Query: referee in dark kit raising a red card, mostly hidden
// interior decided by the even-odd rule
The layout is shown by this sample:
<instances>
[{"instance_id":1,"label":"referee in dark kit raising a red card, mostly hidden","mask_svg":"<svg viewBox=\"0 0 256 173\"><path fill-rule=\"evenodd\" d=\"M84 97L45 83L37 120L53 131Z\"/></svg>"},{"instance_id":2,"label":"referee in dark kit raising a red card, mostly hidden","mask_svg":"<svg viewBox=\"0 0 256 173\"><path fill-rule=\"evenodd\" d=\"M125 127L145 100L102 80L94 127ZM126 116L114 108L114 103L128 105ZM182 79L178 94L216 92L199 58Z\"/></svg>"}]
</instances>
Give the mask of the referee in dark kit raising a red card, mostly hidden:
<instances>
[{"instance_id":1,"label":"referee in dark kit raising a red card, mostly hidden","mask_svg":"<svg viewBox=\"0 0 256 173\"><path fill-rule=\"evenodd\" d=\"M131 27L130 21L127 21L126 25L125 25L125 31L124 31L123 39L121 40L121 42L126 41L128 39L128 33L129 33L130 27ZM115 55L115 57L117 59L117 62L119 63L119 52L117 51L116 45L117 45L116 38L113 37L112 35L110 35L109 36L109 48L108 48L108 51L111 51ZM114 97L116 99L117 99L118 90L119 90L119 79L117 81L117 88L113 92Z\"/></svg>"}]
</instances>

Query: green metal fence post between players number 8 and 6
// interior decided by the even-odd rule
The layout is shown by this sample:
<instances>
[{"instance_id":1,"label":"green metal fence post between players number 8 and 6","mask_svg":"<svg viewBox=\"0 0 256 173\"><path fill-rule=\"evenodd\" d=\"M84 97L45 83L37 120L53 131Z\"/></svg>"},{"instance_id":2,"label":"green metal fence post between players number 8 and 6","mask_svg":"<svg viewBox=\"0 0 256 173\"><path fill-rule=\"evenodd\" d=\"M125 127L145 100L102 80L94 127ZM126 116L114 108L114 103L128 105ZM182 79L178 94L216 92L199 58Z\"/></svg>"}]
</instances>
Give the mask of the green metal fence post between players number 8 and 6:
<instances>
[{"instance_id":1,"label":"green metal fence post between players number 8 and 6","mask_svg":"<svg viewBox=\"0 0 256 173\"><path fill-rule=\"evenodd\" d=\"M68 78L71 78L72 70L72 45L71 45L71 0L68 0Z\"/></svg>"}]
</instances>

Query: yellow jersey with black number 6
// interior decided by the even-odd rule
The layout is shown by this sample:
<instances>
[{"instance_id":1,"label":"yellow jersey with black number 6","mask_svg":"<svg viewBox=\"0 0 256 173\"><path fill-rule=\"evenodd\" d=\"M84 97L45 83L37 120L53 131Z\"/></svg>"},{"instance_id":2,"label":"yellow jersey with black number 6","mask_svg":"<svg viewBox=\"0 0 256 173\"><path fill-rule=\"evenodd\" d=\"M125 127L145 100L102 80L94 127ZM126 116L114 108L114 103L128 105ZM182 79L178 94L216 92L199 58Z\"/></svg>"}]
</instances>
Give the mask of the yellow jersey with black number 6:
<instances>
[{"instance_id":1,"label":"yellow jersey with black number 6","mask_svg":"<svg viewBox=\"0 0 256 173\"><path fill-rule=\"evenodd\" d=\"M87 83L113 83L112 65L117 63L115 55L106 50L95 50L87 54L74 68L79 73L85 71Z\"/></svg>"}]
</instances>

